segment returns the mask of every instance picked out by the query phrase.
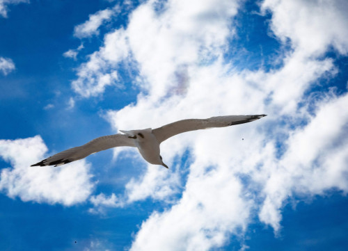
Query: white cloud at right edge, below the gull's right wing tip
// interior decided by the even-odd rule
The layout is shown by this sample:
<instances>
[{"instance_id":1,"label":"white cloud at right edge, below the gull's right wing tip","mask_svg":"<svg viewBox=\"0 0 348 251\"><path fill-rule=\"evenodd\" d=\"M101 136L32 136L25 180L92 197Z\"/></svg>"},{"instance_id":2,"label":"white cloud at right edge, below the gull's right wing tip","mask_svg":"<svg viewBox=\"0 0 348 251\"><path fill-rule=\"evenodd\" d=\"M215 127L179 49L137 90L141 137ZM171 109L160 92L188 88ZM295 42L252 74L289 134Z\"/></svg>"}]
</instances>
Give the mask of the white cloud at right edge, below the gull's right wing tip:
<instances>
[{"instance_id":1,"label":"white cloud at right edge, below the gull's right wing tip","mask_svg":"<svg viewBox=\"0 0 348 251\"><path fill-rule=\"evenodd\" d=\"M292 193L322 195L330 188L348 191L348 95L319 104L306 127L290 133L280 161L265 166L266 200L260 219L280 227L280 209Z\"/></svg>"}]
</instances>

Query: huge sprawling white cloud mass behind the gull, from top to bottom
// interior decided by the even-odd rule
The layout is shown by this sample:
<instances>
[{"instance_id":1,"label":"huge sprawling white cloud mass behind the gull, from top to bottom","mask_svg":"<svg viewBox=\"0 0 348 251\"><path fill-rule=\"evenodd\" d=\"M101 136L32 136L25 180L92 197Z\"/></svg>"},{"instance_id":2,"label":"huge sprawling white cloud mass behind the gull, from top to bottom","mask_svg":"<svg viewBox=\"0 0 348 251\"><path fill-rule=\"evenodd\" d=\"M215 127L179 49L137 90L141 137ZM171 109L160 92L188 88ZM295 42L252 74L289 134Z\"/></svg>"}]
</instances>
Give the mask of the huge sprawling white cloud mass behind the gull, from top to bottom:
<instances>
[{"instance_id":1,"label":"huge sprawling white cloud mass behind the gull, from top to bottom","mask_svg":"<svg viewBox=\"0 0 348 251\"><path fill-rule=\"evenodd\" d=\"M292 50L277 69L238 72L222 56L235 33L232 19L239 3L167 1L159 8L157 1L147 1L134 10L127 28L105 36L72 83L83 97L100 95L111 83L99 84L99 76L117 71L121 62L137 67L137 84L144 91L136 104L109 111L115 130L214 115L269 115L162 143L161 156L175 172L148 165L139 179L129 181L125 195L116 197L125 203L147 197L173 203L173 195L184 192L164 213L152 213L143 222L132 250L209 250L226 243L230 234L241 234L252 212L278 231L281 209L294 194L348 191L348 115L342 111L347 95L304 96L318 79L337 71L333 60L318 56L330 46L347 53L348 36L341 35L347 33L347 4L264 1L274 35L280 42L289 40ZM310 11L314 3L320 15ZM326 24L338 25L331 31ZM83 84L76 88L76 83ZM178 157L187 150L189 160L181 163Z\"/></svg>"}]
</instances>

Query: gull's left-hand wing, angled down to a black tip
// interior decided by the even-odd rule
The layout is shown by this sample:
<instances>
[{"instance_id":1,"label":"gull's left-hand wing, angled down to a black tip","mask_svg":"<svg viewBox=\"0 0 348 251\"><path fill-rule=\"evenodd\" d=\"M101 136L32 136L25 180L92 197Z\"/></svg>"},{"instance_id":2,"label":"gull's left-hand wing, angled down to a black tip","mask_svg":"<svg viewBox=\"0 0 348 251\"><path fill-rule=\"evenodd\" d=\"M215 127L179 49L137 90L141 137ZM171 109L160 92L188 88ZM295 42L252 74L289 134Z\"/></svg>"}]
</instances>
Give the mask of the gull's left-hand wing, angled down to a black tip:
<instances>
[{"instance_id":1,"label":"gull's left-hand wing, angled down to a black tip","mask_svg":"<svg viewBox=\"0 0 348 251\"><path fill-rule=\"evenodd\" d=\"M54 154L53 156L50 156L47 159L44 159L43 161L35 163L31 166L64 165L72 161L84 159L90 154L94 154L95 152L100 152L112 147L136 147L136 145L134 143L134 139L129 138L125 134L103 136L100 138L95 138L94 140L91 140L80 147L74 147L63 152L58 152L58 154Z\"/></svg>"}]
</instances>

